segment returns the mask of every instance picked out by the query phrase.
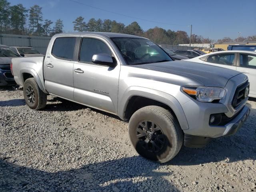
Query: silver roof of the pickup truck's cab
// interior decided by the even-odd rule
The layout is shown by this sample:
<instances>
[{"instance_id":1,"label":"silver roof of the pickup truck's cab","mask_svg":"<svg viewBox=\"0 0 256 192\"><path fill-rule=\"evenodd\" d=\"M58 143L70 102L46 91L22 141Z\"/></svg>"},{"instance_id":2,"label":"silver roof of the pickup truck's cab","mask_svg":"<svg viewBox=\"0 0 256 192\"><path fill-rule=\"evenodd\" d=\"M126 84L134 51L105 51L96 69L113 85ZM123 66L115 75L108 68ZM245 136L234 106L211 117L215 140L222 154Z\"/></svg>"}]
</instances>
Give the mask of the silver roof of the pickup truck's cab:
<instances>
[{"instance_id":1,"label":"silver roof of the pickup truck's cab","mask_svg":"<svg viewBox=\"0 0 256 192\"><path fill-rule=\"evenodd\" d=\"M110 33L110 32L72 32L72 33L59 33L54 36L65 36L65 35L74 35L74 36L80 36L80 35L96 35L101 37L128 37L128 38L144 38L136 35L128 35L128 34L121 34L121 33Z\"/></svg>"}]
</instances>

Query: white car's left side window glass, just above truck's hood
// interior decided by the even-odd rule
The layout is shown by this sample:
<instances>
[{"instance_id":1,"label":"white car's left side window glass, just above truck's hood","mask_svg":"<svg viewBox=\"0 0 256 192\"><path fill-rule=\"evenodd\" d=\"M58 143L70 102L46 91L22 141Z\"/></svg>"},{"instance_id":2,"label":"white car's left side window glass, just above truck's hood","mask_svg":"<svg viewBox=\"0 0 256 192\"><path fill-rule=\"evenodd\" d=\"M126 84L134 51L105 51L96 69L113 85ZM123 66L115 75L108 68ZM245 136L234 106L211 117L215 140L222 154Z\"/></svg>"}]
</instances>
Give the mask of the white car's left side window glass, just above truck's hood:
<instances>
[{"instance_id":1,"label":"white car's left side window glass, just above truck's hood","mask_svg":"<svg viewBox=\"0 0 256 192\"><path fill-rule=\"evenodd\" d=\"M234 58L235 54L212 55L207 58L207 62L224 65L234 65Z\"/></svg>"}]
</instances>

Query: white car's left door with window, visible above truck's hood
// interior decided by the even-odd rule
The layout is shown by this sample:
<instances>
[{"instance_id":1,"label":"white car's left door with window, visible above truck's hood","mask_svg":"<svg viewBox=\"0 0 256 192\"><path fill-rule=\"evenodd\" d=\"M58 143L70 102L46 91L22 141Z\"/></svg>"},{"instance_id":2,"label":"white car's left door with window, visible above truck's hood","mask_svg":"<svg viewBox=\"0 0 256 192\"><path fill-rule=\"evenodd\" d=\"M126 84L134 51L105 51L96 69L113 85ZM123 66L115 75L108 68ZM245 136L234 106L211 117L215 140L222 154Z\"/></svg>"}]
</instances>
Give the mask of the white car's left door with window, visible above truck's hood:
<instances>
[{"instance_id":1,"label":"white car's left door with window, visible above truck's hood","mask_svg":"<svg viewBox=\"0 0 256 192\"><path fill-rule=\"evenodd\" d=\"M212 54L203 63L236 70L236 53Z\"/></svg>"}]
</instances>

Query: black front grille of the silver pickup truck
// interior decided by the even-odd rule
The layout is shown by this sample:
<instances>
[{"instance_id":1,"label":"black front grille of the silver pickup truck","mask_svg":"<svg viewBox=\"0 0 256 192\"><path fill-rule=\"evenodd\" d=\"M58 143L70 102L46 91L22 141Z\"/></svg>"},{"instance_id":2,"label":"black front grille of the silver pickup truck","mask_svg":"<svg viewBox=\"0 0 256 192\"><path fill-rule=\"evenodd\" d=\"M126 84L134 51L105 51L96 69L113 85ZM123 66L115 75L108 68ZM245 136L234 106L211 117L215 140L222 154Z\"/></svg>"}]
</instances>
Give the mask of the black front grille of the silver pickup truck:
<instances>
[{"instance_id":1,"label":"black front grille of the silver pickup truck","mask_svg":"<svg viewBox=\"0 0 256 192\"><path fill-rule=\"evenodd\" d=\"M248 88L247 94L245 94L246 88ZM244 103L245 100L248 98L249 91L250 91L250 83L248 81L246 81L242 85L238 86L236 88L236 92L235 92L234 98L232 100L232 106L234 108L236 108L240 104Z\"/></svg>"}]
</instances>

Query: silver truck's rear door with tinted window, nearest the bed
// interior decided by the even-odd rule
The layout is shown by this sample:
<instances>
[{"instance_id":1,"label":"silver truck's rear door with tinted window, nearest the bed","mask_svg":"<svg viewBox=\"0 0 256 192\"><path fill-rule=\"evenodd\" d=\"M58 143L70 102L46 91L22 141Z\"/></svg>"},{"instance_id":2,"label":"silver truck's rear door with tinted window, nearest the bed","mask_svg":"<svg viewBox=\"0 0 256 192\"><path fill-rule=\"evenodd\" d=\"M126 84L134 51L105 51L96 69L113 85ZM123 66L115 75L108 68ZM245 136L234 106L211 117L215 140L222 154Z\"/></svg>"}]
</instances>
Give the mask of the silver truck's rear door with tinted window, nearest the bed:
<instances>
[{"instance_id":1,"label":"silver truck's rear door with tinted window, nearest the bed","mask_svg":"<svg viewBox=\"0 0 256 192\"><path fill-rule=\"evenodd\" d=\"M56 38L44 61L45 87L50 94L74 100L73 65L76 37Z\"/></svg>"}]
</instances>

